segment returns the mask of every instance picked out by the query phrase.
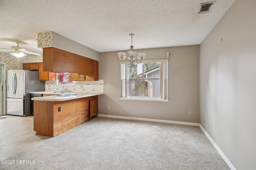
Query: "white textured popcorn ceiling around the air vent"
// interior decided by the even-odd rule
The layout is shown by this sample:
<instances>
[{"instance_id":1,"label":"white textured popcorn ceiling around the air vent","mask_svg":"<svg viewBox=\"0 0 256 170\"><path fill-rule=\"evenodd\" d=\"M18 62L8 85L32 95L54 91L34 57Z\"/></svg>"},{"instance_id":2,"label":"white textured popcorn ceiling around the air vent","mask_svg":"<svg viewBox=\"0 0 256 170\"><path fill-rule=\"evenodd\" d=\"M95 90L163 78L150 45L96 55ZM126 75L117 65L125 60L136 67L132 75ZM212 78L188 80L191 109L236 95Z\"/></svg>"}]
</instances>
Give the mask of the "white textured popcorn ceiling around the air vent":
<instances>
[{"instance_id":1,"label":"white textured popcorn ceiling around the air vent","mask_svg":"<svg viewBox=\"0 0 256 170\"><path fill-rule=\"evenodd\" d=\"M37 34L54 31L99 52L198 45L235 0L0 0L0 48L42 53Z\"/></svg>"}]
</instances>

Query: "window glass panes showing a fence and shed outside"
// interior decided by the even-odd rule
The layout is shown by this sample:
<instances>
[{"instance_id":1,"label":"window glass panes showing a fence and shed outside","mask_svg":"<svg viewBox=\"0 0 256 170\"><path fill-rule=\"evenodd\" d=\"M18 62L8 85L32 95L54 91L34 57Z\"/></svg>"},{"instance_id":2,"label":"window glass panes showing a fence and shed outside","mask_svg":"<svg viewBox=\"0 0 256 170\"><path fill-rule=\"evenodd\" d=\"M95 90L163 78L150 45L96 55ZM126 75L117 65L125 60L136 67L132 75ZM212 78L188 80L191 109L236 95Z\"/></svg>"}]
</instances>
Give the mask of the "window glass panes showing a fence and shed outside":
<instances>
[{"instance_id":1,"label":"window glass panes showing a fence and shed outside","mask_svg":"<svg viewBox=\"0 0 256 170\"><path fill-rule=\"evenodd\" d=\"M122 98L166 99L166 66L166 62L121 64Z\"/></svg>"}]
</instances>

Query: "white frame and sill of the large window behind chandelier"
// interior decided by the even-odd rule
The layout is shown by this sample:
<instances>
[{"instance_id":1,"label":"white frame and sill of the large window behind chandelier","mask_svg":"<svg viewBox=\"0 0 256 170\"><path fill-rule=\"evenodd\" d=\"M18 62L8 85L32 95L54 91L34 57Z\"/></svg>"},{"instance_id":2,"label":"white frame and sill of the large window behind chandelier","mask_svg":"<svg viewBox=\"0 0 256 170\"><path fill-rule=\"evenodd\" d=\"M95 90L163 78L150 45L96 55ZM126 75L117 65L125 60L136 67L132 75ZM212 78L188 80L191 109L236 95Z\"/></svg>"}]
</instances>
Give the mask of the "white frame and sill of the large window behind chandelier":
<instances>
[{"instance_id":1,"label":"white frame and sill of the large window behind chandelier","mask_svg":"<svg viewBox=\"0 0 256 170\"><path fill-rule=\"evenodd\" d=\"M140 101L154 101L154 102L168 102L168 96L167 96L167 78L168 78L168 59L162 59L162 60L146 60L142 61L141 63L157 63L160 62L160 77L162 77L162 81L160 79L160 98L150 98L146 97L143 98L143 96L140 97L128 97L127 96L127 87L126 87L126 64L121 64L121 97L120 100L140 100ZM125 77L125 78L123 78ZM144 79L144 76L142 76L142 79Z\"/></svg>"}]
</instances>

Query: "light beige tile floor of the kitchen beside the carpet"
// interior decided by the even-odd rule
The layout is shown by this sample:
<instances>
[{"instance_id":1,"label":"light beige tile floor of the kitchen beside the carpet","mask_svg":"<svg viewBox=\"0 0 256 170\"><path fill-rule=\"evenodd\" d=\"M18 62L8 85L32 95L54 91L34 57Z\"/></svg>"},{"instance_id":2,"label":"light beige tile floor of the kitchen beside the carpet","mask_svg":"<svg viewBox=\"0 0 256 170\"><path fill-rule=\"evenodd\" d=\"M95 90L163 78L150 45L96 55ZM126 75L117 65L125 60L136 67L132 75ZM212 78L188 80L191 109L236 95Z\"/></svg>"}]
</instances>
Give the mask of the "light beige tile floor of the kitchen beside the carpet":
<instances>
[{"instance_id":1,"label":"light beige tile floor of the kitchen beside the carpet","mask_svg":"<svg viewBox=\"0 0 256 170\"><path fill-rule=\"evenodd\" d=\"M4 115L0 119L0 160L22 152L48 137L37 136L34 118L30 116Z\"/></svg>"}]
</instances>

